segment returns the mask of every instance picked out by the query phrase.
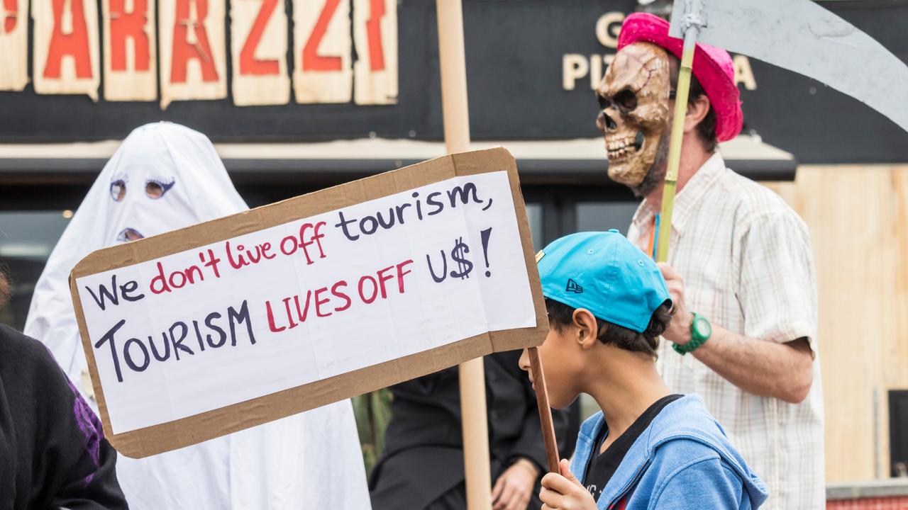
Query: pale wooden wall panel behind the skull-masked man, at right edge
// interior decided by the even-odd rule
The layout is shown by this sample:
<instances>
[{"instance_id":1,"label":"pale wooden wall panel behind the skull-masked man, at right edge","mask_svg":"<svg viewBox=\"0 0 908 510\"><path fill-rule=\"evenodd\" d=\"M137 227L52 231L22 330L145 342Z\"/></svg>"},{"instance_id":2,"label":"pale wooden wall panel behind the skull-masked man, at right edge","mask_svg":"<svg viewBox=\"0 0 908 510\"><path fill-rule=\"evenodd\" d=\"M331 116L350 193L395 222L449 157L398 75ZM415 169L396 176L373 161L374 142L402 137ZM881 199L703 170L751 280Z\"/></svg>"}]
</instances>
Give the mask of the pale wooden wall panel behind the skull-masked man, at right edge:
<instances>
[{"instance_id":1,"label":"pale wooden wall panel behind the skull-masked man, at right edge","mask_svg":"<svg viewBox=\"0 0 908 510\"><path fill-rule=\"evenodd\" d=\"M887 391L908 387L908 166L804 166L769 187L814 248L826 479L887 477Z\"/></svg>"}]
</instances>

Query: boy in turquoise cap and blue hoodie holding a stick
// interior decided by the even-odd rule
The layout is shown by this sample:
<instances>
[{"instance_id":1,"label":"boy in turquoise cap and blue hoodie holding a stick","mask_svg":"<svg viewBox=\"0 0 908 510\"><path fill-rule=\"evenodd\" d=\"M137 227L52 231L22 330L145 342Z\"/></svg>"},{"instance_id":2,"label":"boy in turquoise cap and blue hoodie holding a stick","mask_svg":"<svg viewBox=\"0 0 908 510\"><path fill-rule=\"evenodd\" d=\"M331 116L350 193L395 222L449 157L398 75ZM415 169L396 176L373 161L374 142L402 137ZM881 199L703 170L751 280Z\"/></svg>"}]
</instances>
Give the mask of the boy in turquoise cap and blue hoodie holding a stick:
<instances>
[{"instance_id":1,"label":"boy in turquoise cap and blue hoodie holding a stick","mask_svg":"<svg viewBox=\"0 0 908 510\"><path fill-rule=\"evenodd\" d=\"M573 461L542 479L543 510L759 507L763 481L700 397L671 395L656 373L672 313L656 264L617 230L569 235L537 260L549 402L584 392L602 409L580 428Z\"/></svg>"}]
</instances>

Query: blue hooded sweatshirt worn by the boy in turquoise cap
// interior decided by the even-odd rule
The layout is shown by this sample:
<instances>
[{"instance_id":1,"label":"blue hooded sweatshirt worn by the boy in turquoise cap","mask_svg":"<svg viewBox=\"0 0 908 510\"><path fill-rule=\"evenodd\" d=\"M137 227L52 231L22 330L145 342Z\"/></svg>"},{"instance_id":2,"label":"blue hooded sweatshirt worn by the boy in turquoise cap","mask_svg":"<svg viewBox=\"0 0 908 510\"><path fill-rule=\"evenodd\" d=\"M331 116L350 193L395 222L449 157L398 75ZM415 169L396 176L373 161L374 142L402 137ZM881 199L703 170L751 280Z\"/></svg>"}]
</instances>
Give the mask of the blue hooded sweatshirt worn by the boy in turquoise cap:
<instances>
[{"instance_id":1,"label":"blue hooded sweatshirt worn by the boy in turquoise cap","mask_svg":"<svg viewBox=\"0 0 908 510\"><path fill-rule=\"evenodd\" d=\"M570 469L584 486L592 448L602 427L593 415L577 436ZM662 409L627 450L597 501L599 510L758 508L769 495L696 395Z\"/></svg>"}]
</instances>

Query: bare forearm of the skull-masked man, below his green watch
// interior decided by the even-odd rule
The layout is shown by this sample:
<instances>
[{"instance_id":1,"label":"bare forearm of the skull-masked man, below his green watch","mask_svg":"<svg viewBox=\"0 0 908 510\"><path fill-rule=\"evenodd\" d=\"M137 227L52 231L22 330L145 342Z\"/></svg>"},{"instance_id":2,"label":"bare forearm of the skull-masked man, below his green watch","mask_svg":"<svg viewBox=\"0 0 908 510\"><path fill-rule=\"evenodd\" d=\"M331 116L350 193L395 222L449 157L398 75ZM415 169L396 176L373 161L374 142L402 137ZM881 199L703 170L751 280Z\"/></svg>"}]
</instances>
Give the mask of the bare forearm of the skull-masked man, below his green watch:
<instances>
[{"instance_id":1,"label":"bare forearm of the skull-masked man, below his green watch","mask_svg":"<svg viewBox=\"0 0 908 510\"><path fill-rule=\"evenodd\" d=\"M814 380L814 360L804 338L776 343L714 325L712 336L693 355L736 387L792 404L807 397Z\"/></svg>"}]
</instances>

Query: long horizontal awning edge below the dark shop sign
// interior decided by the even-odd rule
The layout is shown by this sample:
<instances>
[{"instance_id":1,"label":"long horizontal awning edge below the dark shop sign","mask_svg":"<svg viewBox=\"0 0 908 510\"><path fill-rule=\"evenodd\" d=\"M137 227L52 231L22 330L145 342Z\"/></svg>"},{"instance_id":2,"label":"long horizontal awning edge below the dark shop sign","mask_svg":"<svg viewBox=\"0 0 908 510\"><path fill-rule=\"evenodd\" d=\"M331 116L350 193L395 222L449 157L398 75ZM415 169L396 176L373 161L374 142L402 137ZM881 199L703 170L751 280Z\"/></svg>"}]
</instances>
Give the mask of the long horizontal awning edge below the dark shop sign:
<instances>
[{"instance_id":1,"label":"long horizontal awning edge below the dark shop sign","mask_svg":"<svg viewBox=\"0 0 908 510\"><path fill-rule=\"evenodd\" d=\"M0 143L0 183L94 181L119 141ZM313 143L215 143L234 181L329 184L422 162L445 153L442 142L364 138ZM502 146L518 161L525 184L607 184L602 138L472 142L471 150ZM720 144L726 164L756 181L792 181L792 154L740 135Z\"/></svg>"}]
</instances>

